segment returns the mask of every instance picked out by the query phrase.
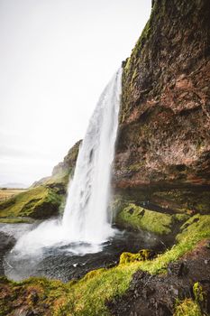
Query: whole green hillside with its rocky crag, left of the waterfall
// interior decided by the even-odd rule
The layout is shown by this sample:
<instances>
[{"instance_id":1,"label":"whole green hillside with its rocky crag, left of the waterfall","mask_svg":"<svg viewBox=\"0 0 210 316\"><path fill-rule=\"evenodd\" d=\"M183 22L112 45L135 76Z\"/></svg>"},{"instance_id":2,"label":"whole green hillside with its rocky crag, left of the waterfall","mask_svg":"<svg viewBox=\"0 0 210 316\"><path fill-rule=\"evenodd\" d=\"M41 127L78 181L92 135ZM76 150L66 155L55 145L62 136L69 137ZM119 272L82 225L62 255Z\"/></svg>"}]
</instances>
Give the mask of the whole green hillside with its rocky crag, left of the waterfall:
<instances>
[{"instance_id":1,"label":"whole green hillside with its rocky crag, left of the waterfall","mask_svg":"<svg viewBox=\"0 0 210 316\"><path fill-rule=\"evenodd\" d=\"M81 141L75 144L59 163L50 177L32 184L28 191L0 203L1 218L50 218L62 212L66 198L69 177L73 175Z\"/></svg>"}]
</instances>

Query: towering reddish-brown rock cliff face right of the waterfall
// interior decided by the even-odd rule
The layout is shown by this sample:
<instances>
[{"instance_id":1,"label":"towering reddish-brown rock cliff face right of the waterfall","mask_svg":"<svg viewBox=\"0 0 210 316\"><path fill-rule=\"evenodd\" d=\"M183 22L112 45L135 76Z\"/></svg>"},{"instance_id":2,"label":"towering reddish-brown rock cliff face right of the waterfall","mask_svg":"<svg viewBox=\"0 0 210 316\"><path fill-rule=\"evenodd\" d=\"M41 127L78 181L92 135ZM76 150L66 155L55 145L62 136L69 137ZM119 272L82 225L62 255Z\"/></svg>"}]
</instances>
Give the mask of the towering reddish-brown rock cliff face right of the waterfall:
<instances>
[{"instance_id":1,"label":"towering reddish-brown rock cliff face right of the waterfall","mask_svg":"<svg viewBox=\"0 0 210 316\"><path fill-rule=\"evenodd\" d=\"M114 162L121 194L171 209L210 208L209 16L208 0L153 1L123 62Z\"/></svg>"}]
</instances>

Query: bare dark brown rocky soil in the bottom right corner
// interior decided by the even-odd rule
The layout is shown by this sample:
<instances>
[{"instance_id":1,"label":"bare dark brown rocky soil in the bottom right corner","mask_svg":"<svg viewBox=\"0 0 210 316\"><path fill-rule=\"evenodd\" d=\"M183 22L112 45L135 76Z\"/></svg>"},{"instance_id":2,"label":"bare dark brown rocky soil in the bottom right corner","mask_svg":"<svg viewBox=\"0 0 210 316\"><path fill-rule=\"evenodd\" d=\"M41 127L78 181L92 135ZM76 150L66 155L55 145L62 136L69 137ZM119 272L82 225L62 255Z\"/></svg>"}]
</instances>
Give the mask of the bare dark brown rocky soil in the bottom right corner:
<instances>
[{"instance_id":1,"label":"bare dark brown rocky soil in the bottom right corner","mask_svg":"<svg viewBox=\"0 0 210 316\"><path fill-rule=\"evenodd\" d=\"M190 316L210 311L209 242L201 242L194 251L170 264L167 274L151 275L138 271L130 289L108 304L114 316ZM197 291L200 297L197 297ZM203 293L201 295L201 293ZM205 294L204 294L205 293ZM180 311L176 313L176 310Z\"/></svg>"}]
</instances>

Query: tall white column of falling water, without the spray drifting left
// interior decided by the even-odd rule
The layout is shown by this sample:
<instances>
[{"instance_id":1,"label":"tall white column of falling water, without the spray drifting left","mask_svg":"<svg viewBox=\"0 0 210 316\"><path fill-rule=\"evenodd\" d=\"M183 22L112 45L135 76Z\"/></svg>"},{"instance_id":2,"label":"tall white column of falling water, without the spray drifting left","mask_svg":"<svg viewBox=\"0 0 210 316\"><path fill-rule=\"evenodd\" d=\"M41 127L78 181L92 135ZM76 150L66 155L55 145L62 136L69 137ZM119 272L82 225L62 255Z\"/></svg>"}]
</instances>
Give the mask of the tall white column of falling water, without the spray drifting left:
<instances>
[{"instance_id":1,"label":"tall white column of falling water, without the spray drifting left","mask_svg":"<svg viewBox=\"0 0 210 316\"><path fill-rule=\"evenodd\" d=\"M71 241L101 243L114 232L108 202L121 78L122 70L118 70L106 86L79 149L62 219L62 227Z\"/></svg>"}]
</instances>

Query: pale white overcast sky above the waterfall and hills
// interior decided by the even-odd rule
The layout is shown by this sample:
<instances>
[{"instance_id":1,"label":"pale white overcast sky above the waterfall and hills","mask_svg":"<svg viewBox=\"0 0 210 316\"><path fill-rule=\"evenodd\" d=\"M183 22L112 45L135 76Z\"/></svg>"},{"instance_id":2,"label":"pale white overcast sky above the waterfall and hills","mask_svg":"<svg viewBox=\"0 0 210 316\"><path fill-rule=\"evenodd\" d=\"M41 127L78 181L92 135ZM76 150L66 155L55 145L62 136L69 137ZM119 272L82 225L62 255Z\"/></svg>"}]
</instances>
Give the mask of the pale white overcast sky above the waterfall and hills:
<instances>
[{"instance_id":1,"label":"pale white overcast sky above the waterfall and hills","mask_svg":"<svg viewBox=\"0 0 210 316\"><path fill-rule=\"evenodd\" d=\"M0 184L31 185L86 133L151 0L0 0Z\"/></svg>"}]
</instances>

